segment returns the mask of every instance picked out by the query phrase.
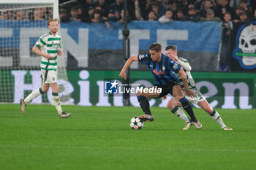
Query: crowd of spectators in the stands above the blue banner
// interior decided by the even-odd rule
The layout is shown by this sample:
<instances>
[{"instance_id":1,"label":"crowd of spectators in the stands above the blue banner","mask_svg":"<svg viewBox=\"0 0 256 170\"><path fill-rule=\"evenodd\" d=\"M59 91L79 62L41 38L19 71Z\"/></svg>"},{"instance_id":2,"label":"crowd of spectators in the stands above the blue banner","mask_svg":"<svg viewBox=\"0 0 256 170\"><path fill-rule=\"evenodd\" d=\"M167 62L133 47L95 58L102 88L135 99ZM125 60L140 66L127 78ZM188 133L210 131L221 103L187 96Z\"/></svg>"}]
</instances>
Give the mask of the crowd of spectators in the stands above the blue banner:
<instances>
[{"instance_id":1,"label":"crowd of spectators in the stands above the blue banner","mask_svg":"<svg viewBox=\"0 0 256 170\"><path fill-rule=\"evenodd\" d=\"M62 22L77 20L85 23L124 22L124 0L59 0ZM0 20L45 20L53 9L41 7L0 13ZM228 16L227 16L228 15ZM127 18L158 20L168 23L181 21L222 21L229 23L256 20L255 7L247 0L127 0Z\"/></svg>"}]
</instances>

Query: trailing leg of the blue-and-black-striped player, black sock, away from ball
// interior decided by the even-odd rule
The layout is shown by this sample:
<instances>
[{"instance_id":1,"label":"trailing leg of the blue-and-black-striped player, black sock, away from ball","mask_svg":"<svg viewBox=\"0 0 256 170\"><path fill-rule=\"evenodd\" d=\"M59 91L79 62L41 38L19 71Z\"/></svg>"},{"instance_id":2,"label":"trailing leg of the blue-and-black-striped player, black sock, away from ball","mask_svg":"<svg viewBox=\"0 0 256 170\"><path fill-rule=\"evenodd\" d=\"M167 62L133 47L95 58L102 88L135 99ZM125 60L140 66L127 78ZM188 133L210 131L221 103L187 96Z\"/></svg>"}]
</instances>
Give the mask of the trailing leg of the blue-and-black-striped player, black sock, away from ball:
<instances>
[{"instance_id":1,"label":"trailing leg of the blue-and-black-striped player, black sock, away from ball","mask_svg":"<svg viewBox=\"0 0 256 170\"><path fill-rule=\"evenodd\" d=\"M195 127L197 129L202 128L203 125L195 117L193 109L192 109L191 105L189 104L189 101L187 100L187 98L184 96L183 90L180 85L173 86L173 96L175 98L177 98L178 101L181 102L182 107L187 112L187 114L189 114L190 119L191 119L192 123L195 125Z\"/></svg>"}]
</instances>

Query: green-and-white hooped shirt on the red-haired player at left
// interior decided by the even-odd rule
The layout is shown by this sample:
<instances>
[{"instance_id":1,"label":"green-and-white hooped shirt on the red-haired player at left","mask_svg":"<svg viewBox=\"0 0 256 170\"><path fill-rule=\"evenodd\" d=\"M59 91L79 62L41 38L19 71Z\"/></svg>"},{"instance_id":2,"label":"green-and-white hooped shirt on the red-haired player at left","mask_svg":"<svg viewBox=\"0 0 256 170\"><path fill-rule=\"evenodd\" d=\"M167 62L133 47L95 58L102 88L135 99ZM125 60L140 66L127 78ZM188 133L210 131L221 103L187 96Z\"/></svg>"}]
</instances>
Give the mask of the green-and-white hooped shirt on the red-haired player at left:
<instances>
[{"instance_id":1,"label":"green-and-white hooped shirt on the red-haired player at left","mask_svg":"<svg viewBox=\"0 0 256 170\"><path fill-rule=\"evenodd\" d=\"M61 49L61 36L58 34L53 36L49 32L40 36L36 42L36 46L39 47L42 53L50 54L50 56L54 57L54 59L42 57L40 65L41 69L57 70L57 55Z\"/></svg>"}]
</instances>

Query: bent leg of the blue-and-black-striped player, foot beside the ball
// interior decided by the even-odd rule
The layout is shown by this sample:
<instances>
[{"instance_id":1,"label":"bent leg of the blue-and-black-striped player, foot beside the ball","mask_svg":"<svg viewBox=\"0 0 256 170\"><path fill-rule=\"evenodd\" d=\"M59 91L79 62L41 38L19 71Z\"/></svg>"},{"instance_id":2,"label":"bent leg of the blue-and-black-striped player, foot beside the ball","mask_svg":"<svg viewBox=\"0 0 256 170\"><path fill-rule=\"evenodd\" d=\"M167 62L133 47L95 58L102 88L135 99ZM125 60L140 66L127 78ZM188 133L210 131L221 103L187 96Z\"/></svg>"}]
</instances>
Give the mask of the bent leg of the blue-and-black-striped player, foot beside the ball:
<instances>
[{"instance_id":1,"label":"bent leg of the blue-and-black-striped player, foot beside the ball","mask_svg":"<svg viewBox=\"0 0 256 170\"><path fill-rule=\"evenodd\" d=\"M154 87L151 87L154 88ZM150 88L148 88L149 90ZM148 98L158 98L160 96L160 93L140 93L138 92L136 94L138 98L138 102L140 104L141 109L145 113L144 115L140 115L140 119L143 121L154 121L154 116L151 114L150 106L148 102Z\"/></svg>"}]
</instances>

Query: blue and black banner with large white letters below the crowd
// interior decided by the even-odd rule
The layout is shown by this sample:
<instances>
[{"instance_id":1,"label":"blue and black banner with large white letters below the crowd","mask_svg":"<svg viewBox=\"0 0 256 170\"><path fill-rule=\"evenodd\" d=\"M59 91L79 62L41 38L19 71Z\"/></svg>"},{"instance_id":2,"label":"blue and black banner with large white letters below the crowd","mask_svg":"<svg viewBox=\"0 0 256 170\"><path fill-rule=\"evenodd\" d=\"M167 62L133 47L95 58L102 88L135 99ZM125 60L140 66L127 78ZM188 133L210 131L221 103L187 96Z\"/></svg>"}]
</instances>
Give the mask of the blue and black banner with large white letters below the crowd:
<instances>
[{"instance_id":1,"label":"blue and black banner with large white letters below the crowd","mask_svg":"<svg viewBox=\"0 0 256 170\"><path fill-rule=\"evenodd\" d=\"M111 28L107 29L103 23L77 21L61 23L60 30L67 69L121 69L123 66L121 30L124 26L121 23L111 22L110 25ZM26 28L26 26L29 27ZM1 61L4 62L7 58L10 60L10 56L4 56L10 55L6 51L12 51L13 61L15 61L13 62L15 66L8 68L20 69L20 63L24 63L24 58L38 57L30 51L39 36L47 31L47 28L42 26L47 26L45 20L0 20ZM148 53L148 47L154 42L162 45L162 53L165 53L167 45L177 45L178 55L187 58L194 71L217 71L218 69L222 30L217 22L176 21L162 24L157 21L132 21L128 23L128 28L130 29L130 55ZM38 66L39 69L38 63L31 64L34 67ZM29 69L31 66L22 68ZM135 64L132 69L147 68Z\"/></svg>"}]
</instances>

